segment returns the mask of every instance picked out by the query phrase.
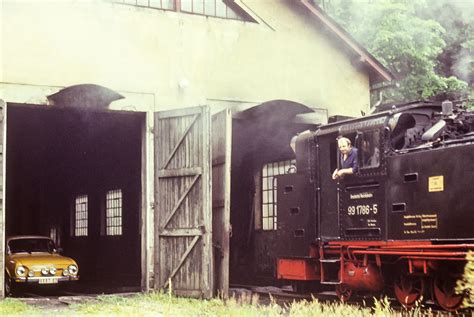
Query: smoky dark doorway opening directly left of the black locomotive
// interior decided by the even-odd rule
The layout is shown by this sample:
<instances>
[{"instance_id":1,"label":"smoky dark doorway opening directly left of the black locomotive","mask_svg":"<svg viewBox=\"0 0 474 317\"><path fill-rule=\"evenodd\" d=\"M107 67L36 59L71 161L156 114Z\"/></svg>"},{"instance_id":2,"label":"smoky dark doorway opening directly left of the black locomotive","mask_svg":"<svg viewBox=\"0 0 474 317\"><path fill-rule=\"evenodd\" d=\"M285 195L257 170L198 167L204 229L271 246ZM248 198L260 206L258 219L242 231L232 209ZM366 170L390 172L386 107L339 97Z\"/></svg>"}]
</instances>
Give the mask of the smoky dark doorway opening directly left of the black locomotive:
<instances>
[{"instance_id":1,"label":"smoky dark doorway opening directly left of the black locomotive","mask_svg":"<svg viewBox=\"0 0 474 317\"><path fill-rule=\"evenodd\" d=\"M230 220L231 285L276 283L282 239L276 204L277 176L293 173L291 139L314 128L295 116L312 110L287 100L270 101L234 116Z\"/></svg>"}]
</instances>

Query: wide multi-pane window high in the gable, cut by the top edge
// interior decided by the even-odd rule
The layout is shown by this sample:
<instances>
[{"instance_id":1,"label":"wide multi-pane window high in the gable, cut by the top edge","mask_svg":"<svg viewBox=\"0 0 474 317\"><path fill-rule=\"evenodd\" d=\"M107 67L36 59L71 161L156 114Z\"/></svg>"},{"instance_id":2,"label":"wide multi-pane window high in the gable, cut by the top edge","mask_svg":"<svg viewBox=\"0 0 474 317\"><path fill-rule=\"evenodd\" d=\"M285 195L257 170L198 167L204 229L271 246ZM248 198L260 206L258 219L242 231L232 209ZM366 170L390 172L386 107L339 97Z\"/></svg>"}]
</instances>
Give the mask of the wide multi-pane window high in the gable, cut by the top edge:
<instances>
[{"instance_id":1,"label":"wide multi-pane window high in the gable, cut by the top edge","mask_svg":"<svg viewBox=\"0 0 474 317\"><path fill-rule=\"evenodd\" d=\"M118 3L131 4L163 10L182 11L233 20L245 20L224 0L114 0Z\"/></svg>"}]
</instances>

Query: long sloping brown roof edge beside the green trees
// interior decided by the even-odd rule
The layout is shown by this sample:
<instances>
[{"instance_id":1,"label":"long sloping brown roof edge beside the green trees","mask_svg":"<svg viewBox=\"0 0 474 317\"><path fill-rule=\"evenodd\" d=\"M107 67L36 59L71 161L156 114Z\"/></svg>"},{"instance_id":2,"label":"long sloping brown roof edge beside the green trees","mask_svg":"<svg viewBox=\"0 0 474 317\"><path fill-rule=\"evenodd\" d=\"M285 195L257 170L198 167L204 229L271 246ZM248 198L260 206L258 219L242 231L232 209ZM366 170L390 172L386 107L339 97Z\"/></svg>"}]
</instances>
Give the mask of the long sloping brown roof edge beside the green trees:
<instances>
[{"instance_id":1,"label":"long sloping brown roof edge beside the green trees","mask_svg":"<svg viewBox=\"0 0 474 317\"><path fill-rule=\"evenodd\" d=\"M358 57L369 72L370 84L379 84L392 81L395 76L383 66L372 54L367 52L349 33L347 33L336 21L329 17L319 6L310 0L294 0L304 6L322 25L330 31L330 34L339 40L348 51Z\"/></svg>"}]
</instances>

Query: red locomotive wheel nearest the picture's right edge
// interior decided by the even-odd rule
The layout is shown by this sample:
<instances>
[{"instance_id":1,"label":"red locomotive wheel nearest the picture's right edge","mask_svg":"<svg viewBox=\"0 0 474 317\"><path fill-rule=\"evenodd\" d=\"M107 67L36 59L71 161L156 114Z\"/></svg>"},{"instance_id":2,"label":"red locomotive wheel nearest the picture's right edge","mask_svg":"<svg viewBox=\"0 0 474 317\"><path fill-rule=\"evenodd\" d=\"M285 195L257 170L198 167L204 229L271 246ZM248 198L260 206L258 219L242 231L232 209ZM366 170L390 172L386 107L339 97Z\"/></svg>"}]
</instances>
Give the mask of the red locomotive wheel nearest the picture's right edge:
<instances>
[{"instance_id":1,"label":"red locomotive wheel nearest the picture's right edge","mask_svg":"<svg viewBox=\"0 0 474 317\"><path fill-rule=\"evenodd\" d=\"M456 294L456 279L436 275L433 279L432 294L439 306L447 311L455 311L462 306L464 294Z\"/></svg>"}]
</instances>

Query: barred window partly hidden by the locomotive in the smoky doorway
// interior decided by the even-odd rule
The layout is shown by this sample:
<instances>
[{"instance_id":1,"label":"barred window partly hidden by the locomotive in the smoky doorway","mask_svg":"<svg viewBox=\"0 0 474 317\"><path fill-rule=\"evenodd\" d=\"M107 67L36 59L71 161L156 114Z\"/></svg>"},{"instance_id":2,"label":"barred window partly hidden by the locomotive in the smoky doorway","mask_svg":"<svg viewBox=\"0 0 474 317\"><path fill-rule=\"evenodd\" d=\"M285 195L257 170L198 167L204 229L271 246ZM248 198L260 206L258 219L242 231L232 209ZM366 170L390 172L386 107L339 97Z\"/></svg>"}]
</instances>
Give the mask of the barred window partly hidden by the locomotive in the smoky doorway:
<instances>
[{"instance_id":1,"label":"barred window partly hidden by the locomotive in the smoky doorway","mask_svg":"<svg viewBox=\"0 0 474 317\"><path fill-rule=\"evenodd\" d=\"M268 163L262 169L262 229L277 229L277 179L275 176L296 173L295 160Z\"/></svg>"}]
</instances>

